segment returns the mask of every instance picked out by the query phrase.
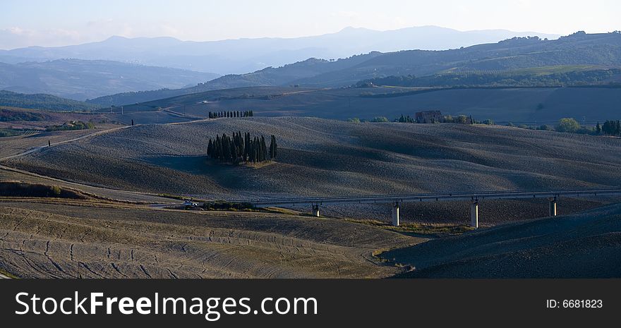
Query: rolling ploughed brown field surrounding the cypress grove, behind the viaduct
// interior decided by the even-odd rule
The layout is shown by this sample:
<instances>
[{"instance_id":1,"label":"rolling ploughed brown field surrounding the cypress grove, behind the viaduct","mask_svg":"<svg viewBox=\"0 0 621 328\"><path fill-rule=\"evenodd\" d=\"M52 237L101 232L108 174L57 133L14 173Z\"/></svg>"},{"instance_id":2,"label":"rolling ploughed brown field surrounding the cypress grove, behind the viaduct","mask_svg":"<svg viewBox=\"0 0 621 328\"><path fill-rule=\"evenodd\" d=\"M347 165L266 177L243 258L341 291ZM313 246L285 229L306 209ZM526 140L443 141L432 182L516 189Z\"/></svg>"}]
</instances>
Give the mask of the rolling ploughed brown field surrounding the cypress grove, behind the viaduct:
<instances>
[{"instance_id":1,"label":"rolling ploughed brown field surrounding the cypress grove, behind the viaduct","mask_svg":"<svg viewBox=\"0 0 621 328\"><path fill-rule=\"evenodd\" d=\"M255 169L207 161L205 140L233 131L276 135L277 162ZM618 139L503 126L255 117L134 126L3 164L102 188L248 199L620 186L620 151ZM561 200L559 209L573 213L610 201ZM541 217L546 206L538 200L485 202L481 223ZM417 203L405 205L402 216L464 223L467 211L459 202ZM328 206L323 213L387 219L390 210Z\"/></svg>"}]
</instances>

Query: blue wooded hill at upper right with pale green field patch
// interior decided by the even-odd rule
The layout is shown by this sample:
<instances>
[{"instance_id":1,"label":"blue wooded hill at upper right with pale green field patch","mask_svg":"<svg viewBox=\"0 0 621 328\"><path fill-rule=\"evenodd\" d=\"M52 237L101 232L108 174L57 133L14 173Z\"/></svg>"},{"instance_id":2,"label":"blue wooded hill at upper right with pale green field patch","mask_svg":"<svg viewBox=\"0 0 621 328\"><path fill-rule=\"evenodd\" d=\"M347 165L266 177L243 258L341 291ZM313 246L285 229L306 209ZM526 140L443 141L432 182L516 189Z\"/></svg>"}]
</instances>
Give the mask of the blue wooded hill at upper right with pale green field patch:
<instances>
[{"instance_id":1,"label":"blue wooded hill at upper right with pale green field patch","mask_svg":"<svg viewBox=\"0 0 621 328\"><path fill-rule=\"evenodd\" d=\"M514 38L445 51L397 51L342 71L294 81L305 86L351 85L390 75L433 75L454 71L505 71L559 65L621 65L621 34L577 32L558 40Z\"/></svg>"}]
</instances>

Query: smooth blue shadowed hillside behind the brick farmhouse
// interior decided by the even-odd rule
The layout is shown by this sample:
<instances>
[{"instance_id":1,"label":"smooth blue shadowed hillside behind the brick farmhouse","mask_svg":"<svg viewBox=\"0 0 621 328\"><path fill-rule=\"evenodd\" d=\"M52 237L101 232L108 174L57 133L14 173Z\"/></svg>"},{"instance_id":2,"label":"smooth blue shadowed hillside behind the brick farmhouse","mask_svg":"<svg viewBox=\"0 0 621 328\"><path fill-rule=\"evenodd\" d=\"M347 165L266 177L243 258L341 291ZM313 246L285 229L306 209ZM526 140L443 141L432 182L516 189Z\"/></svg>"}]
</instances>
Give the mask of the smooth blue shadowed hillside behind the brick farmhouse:
<instances>
[{"instance_id":1,"label":"smooth blue shadowed hillside behind the brick farmhouse","mask_svg":"<svg viewBox=\"0 0 621 328\"><path fill-rule=\"evenodd\" d=\"M205 103L205 101L207 103ZM593 125L619 116L620 87L243 87L200 92L128 105L126 111L170 108L207 117L209 111L253 109L255 116L315 116L397 119L402 114L438 109L497 123L557 123L574 117ZM109 109L102 109L109 111Z\"/></svg>"}]
</instances>

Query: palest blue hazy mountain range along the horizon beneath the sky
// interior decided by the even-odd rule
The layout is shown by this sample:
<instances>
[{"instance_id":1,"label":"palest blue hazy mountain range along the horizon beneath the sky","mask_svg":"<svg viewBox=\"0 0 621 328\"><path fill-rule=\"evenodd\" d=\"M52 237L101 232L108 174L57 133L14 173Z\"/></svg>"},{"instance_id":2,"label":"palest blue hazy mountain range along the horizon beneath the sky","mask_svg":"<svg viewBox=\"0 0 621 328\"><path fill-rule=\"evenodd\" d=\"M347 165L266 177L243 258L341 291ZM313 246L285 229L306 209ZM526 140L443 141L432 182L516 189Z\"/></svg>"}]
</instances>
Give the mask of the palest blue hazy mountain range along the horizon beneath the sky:
<instances>
[{"instance_id":1,"label":"palest blue hazy mountain range along the horizon beneath the sky","mask_svg":"<svg viewBox=\"0 0 621 328\"><path fill-rule=\"evenodd\" d=\"M110 37L102 42L66 47L0 50L0 62L75 58L125 61L225 75L258 71L269 66L283 66L309 58L339 59L371 51L404 49L445 50L524 36L538 36L542 39L559 37L541 32L509 30L462 32L436 26L388 31L345 28L336 33L312 37L265 37L212 42L181 41L172 37Z\"/></svg>"}]
</instances>

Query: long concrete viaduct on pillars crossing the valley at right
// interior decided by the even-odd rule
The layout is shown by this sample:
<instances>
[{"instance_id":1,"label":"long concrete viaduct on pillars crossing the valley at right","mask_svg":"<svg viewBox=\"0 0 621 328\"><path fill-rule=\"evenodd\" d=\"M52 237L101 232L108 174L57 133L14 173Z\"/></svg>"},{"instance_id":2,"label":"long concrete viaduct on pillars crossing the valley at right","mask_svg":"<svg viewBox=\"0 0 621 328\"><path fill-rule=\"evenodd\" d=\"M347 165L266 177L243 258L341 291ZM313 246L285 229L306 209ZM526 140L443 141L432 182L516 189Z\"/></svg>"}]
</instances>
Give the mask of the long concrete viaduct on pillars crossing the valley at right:
<instances>
[{"instance_id":1,"label":"long concrete viaduct on pillars crossing the valley at right","mask_svg":"<svg viewBox=\"0 0 621 328\"><path fill-rule=\"evenodd\" d=\"M368 195L324 198L283 198L266 200L236 200L234 204L251 204L255 206L311 205L312 214L319 217L319 209L324 204L346 203L391 203L392 225L399 226L399 207L403 202L436 202L440 200L469 200L470 226L478 228L478 203L481 200L547 198L550 217L555 217L557 201L560 197L581 198L594 196L621 195L621 188L584 189L584 190L543 190L543 191L490 191L481 193L426 193L414 195Z\"/></svg>"}]
</instances>

